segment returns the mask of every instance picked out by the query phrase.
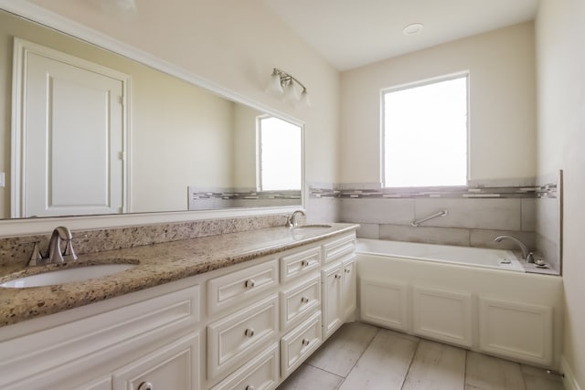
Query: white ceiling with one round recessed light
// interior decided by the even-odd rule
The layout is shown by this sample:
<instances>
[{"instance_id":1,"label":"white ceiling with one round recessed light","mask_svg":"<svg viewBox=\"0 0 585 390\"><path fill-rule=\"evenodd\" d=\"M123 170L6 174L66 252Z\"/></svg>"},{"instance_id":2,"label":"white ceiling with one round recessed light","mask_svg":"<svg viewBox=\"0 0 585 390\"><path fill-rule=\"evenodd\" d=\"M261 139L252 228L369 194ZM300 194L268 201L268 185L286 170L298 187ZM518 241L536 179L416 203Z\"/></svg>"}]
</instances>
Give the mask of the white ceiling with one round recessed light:
<instances>
[{"instance_id":1,"label":"white ceiling with one round recessed light","mask_svg":"<svg viewBox=\"0 0 585 390\"><path fill-rule=\"evenodd\" d=\"M539 0L263 0L338 70L534 19ZM412 23L424 27L407 36Z\"/></svg>"}]
</instances>

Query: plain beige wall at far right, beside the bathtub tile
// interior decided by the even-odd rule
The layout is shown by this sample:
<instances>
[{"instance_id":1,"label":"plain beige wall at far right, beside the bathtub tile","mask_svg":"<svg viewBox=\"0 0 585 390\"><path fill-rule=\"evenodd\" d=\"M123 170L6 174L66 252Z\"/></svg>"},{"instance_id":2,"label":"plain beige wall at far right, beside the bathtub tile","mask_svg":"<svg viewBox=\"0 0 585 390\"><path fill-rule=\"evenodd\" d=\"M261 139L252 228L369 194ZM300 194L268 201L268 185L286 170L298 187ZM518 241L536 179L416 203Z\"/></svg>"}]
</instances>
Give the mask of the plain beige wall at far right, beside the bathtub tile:
<instances>
[{"instance_id":1,"label":"plain beige wall at far right, beside the bathtub tile","mask_svg":"<svg viewBox=\"0 0 585 390\"><path fill-rule=\"evenodd\" d=\"M563 354L585 388L585 2L543 0L536 26L538 174L564 171Z\"/></svg>"}]
</instances>

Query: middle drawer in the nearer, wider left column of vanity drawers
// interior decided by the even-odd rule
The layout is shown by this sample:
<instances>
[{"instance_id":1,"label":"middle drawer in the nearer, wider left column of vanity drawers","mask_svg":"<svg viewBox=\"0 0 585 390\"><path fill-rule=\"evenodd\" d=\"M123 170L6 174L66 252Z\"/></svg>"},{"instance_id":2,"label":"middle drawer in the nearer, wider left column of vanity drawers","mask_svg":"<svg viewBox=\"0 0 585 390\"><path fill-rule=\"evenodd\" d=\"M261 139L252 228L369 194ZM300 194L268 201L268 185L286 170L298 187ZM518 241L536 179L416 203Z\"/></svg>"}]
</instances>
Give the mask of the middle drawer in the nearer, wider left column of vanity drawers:
<instances>
[{"instance_id":1,"label":"middle drawer in the nearer, wider left column of vanity drawers","mask_svg":"<svg viewBox=\"0 0 585 390\"><path fill-rule=\"evenodd\" d=\"M278 331L278 296L252 304L207 326L207 377L244 364Z\"/></svg>"}]
</instances>

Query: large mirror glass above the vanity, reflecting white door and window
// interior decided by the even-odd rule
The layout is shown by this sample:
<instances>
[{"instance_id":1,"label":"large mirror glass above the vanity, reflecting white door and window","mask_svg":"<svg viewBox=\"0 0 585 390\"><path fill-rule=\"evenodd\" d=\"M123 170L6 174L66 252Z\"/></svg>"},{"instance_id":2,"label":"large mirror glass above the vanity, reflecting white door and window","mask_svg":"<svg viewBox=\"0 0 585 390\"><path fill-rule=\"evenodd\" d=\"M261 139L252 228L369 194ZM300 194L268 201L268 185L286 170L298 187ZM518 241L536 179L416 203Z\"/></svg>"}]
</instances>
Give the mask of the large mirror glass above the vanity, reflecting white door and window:
<instances>
[{"instance_id":1,"label":"large mirror glass above the vanity, reflecting white door and window","mask_svg":"<svg viewBox=\"0 0 585 390\"><path fill-rule=\"evenodd\" d=\"M59 106L62 110L58 116L69 128L59 131L62 128L56 127L58 122L49 121L50 125L40 129L49 141L56 142L52 145L55 148L52 155L61 158L52 160L51 153L23 152L27 142L22 140L37 138L32 138L32 132L23 127L30 121L22 121L19 131L23 134L16 135L16 139L11 137L9 130L13 85L15 88L19 85L13 80L12 72L16 37L124 75L127 85L122 86L123 112L118 119L123 132L122 146L104 149L110 124L96 120L90 111L82 110L80 104L71 105L81 100L70 94L62 100L65 103ZM5 173L6 183L0 188L1 218L302 205L303 127L300 123L281 121L293 130L282 131L282 137L276 137L276 143L280 140L286 144L285 150L280 146L275 153L278 158L270 160L268 155L273 144L260 145L259 123L261 118L276 121L272 115L1 10L0 62L0 120L5 129L0 138L0 172ZM53 77L51 85L58 86L60 80ZM70 80L66 84L70 86ZM69 92L71 90L75 89ZM19 90L19 93L27 94L27 91ZM64 115L68 112L71 115ZM44 121L43 118L54 118L54 113L35 110L32 118ZM95 131L91 132L93 138L88 133L90 129ZM102 131L101 137L96 135L99 131ZM286 132L291 132L293 139L285 138ZM85 143L80 144L81 141ZM42 178L47 186L27 188L24 174L27 170L15 168L10 153L12 145L16 147L16 154L27 154L27 164L38 163L34 160L37 155L42 155L40 163L61 163L56 174ZM47 145L37 147L47 148ZM94 159L88 161L91 154ZM116 171L119 178L115 178L112 171L116 164L123 166ZM294 178L294 184L263 185L263 174L269 171L279 178ZM104 176L109 181L105 181ZM37 180L41 179L35 177L34 181ZM63 180L67 181L66 186L60 184ZM114 184L122 188L119 205L112 203L108 193L109 186ZM90 200L105 205L105 211L96 211L92 206L79 207L80 204L87 206L87 199L79 196L87 189L91 191L86 191L86 195L99 193L95 196L97 200ZM55 206L57 201L58 207L52 207L50 213L43 212L43 207L40 210L30 208L27 196L36 198L37 204L45 208Z\"/></svg>"}]
</instances>

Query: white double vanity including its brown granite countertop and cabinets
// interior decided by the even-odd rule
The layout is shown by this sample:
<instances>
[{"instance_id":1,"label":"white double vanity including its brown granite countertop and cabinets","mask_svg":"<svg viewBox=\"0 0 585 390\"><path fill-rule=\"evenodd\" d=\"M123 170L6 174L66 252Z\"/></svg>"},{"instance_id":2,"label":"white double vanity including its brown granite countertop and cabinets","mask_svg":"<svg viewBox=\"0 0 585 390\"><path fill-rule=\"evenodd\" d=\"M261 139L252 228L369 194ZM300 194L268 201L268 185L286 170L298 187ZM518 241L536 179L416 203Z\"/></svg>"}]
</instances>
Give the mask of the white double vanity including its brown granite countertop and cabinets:
<instances>
[{"instance_id":1,"label":"white double vanity including its brown granite countertop and cabinets","mask_svg":"<svg viewBox=\"0 0 585 390\"><path fill-rule=\"evenodd\" d=\"M1 288L0 387L275 388L353 319L355 229L270 227L44 266L125 269ZM0 283L41 269L10 270Z\"/></svg>"}]
</instances>

